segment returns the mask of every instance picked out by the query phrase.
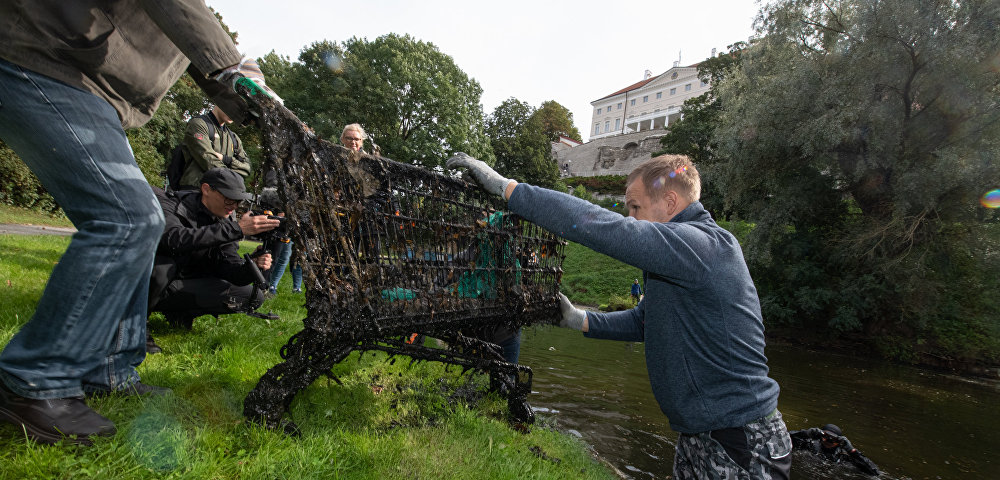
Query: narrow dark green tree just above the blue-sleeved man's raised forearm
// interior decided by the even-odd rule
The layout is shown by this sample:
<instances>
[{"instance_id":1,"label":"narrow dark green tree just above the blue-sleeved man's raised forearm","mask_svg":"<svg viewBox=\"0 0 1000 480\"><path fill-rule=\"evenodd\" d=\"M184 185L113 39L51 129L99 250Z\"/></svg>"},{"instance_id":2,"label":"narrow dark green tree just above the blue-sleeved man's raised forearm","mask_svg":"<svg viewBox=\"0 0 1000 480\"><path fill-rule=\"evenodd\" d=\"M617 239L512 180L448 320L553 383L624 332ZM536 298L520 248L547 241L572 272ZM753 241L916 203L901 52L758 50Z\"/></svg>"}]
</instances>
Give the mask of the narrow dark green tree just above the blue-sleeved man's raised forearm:
<instances>
[{"instance_id":1,"label":"narrow dark green tree just above the blue-sleeved man's raised forearm","mask_svg":"<svg viewBox=\"0 0 1000 480\"><path fill-rule=\"evenodd\" d=\"M486 118L486 136L498 171L551 188L559 178L559 169L552 161L552 146L537 113L527 102L508 98Z\"/></svg>"}]
</instances>

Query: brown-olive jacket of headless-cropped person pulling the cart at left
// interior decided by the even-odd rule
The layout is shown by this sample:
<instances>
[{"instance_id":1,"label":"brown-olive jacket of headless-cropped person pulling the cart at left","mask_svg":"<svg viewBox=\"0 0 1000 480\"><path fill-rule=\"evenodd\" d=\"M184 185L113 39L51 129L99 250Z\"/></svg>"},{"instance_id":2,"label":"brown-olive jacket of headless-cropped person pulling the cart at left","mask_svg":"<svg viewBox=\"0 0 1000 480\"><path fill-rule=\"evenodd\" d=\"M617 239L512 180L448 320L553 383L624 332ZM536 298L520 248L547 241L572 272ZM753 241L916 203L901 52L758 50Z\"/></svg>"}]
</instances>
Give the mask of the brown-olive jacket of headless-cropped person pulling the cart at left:
<instances>
[{"instance_id":1,"label":"brown-olive jacket of headless-cropped person pulling the cart at left","mask_svg":"<svg viewBox=\"0 0 1000 480\"><path fill-rule=\"evenodd\" d=\"M123 128L145 124L189 65L234 121L246 114L207 76L241 55L204 0L4 0L0 45L0 58L107 100Z\"/></svg>"}]
</instances>

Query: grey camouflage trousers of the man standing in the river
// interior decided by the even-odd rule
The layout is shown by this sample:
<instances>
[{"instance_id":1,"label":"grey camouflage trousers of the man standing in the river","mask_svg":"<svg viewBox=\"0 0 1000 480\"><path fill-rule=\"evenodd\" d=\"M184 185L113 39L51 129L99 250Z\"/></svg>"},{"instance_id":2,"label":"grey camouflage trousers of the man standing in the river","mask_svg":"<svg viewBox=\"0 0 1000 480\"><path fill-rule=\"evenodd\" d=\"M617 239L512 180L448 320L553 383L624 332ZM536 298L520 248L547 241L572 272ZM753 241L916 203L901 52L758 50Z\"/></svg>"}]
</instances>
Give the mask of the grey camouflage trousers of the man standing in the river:
<instances>
[{"instance_id":1,"label":"grey camouflage trousers of the man standing in the river","mask_svg":"<svg viewBox=\"0 0 1000 480\"><path fill-rule=\"evenodd\" d=\"M792 440L777 409L742 427L682 433L674 455L677 480L788 479Z\"/></svg>"}]
</instances>

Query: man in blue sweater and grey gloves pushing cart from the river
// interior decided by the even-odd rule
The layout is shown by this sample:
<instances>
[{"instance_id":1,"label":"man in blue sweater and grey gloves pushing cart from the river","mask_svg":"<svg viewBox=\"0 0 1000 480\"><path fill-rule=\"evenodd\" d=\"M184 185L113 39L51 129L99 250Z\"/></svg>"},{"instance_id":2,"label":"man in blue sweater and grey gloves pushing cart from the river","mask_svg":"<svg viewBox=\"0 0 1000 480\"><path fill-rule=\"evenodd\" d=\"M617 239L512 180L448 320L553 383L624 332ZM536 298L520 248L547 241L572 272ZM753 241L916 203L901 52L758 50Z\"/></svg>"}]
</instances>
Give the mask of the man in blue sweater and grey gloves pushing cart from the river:
<instances>
[{"instance_id":1,"label":"man in blue sweater and grey gloves pushing cart from the river","mask_svg":"<svg viewBox=\"0 0 1000 480\"><path fill-rule=\"evenodd\" d=\"M698 201L690 159L663 155L636 168L628 217L519 184L465 154L448 166L467 168L528 221L643 270L646 294L635 308L585 312L560 294L560 325L645 342L653 394L680 433L675 478L788 478L791 439L767 376L757 289L739 243Z\"/></svg>"}]
</instances>

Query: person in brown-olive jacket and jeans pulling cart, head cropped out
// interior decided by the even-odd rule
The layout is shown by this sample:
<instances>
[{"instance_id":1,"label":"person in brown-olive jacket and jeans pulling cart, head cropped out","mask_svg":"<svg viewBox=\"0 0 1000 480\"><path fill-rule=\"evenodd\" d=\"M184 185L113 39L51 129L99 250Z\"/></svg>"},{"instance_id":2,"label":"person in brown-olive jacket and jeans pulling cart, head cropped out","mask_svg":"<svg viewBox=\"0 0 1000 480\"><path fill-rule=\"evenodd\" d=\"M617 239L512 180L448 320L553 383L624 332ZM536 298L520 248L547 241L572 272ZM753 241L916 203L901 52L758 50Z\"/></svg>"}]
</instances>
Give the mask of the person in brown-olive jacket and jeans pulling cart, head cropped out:
<instances>
[{"instance_id":1,"label":"person in brown-olive jacket and jeans pulling cart, head cropped out","mask_svg":"<svg viewBox=\"0 0 1000 480\"><path fill-rule=\"evenodd\" d=\"M0 421L90 444L117 429L85 394L169 391L136 372L164 219L125 129L149 121L185 70L236 122L250 116L237 82L273 92L204 0L0 2L0 45L0 139L77 228L0 353Z\"/></svg>"}]
</instances>

